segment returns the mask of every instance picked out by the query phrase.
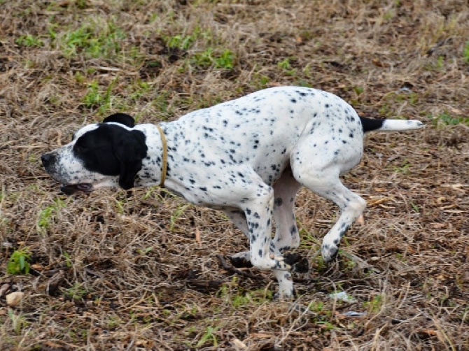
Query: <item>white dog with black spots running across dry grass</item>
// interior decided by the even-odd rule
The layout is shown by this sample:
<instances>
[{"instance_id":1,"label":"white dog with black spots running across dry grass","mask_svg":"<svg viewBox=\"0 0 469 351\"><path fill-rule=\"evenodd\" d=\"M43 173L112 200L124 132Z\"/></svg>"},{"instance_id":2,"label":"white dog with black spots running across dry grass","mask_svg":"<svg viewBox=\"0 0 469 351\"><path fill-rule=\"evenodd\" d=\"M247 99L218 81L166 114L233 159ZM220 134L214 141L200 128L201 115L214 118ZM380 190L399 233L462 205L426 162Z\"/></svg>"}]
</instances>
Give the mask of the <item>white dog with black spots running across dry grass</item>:
<instances>
[{"instance_id":1,"label":"white dog with black spots running across dry grass","mask_svg":"<svg viewBox=\"0 0 469 351\"><path fill-rule=\"evenodd\" d=\"M364 133L421 127L418 120L359 117L346 101L322 90L272 87L159 125L110 115L80 128L41 161L65 194L162 185L191 203L223 211L249 241L249 251L233 255L233 264L272 270L276 296L290 298L290 271L307 270L305 259L283 255L300 244L294 213L300 187L339 207L321 247L329 262L365 209L365 200L339 180L360 162Z\"/></svg>"}]
</instances>

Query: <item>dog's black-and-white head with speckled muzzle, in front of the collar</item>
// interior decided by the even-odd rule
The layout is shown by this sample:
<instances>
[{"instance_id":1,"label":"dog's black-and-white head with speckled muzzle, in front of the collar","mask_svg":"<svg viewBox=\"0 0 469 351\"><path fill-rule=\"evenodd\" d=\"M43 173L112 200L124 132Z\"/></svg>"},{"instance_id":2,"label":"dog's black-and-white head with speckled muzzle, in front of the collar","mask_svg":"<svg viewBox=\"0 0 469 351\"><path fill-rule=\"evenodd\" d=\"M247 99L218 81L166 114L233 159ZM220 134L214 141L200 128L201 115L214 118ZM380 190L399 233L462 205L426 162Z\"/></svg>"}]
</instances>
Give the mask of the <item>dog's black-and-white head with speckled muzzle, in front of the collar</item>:
<instances>
[{"instance_id":1,"label":"dog's black-and-white head with speckled muzzle, in front of the collar","mask_svg":"<svg viewBox=\"0 0 469 351\"><path fill-rule=\"evenodd\" d=\"M70 143L41 156L45 171L65 194L99 187L130 189L146 157L145 134L134 130L130 115L116 113L88 124Z\"/></svg>"}]
</instances>

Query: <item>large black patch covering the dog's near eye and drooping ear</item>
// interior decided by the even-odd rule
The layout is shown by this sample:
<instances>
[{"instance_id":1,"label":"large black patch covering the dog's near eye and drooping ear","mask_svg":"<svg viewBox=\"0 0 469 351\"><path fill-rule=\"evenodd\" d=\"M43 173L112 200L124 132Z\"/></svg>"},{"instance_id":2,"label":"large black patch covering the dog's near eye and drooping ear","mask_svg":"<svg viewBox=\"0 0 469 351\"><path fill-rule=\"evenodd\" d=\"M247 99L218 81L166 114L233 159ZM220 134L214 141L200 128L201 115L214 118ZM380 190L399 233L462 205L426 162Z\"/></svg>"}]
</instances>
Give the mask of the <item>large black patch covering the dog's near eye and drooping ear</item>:
<instances>
[{"instance_id":1,"label":"large black patch covering the dog's near eye and drooping ear","mask_svg":"<svg viewBox=\"0 0 469 351\"><path fill-rule=\"evenodd\" d=\"M73 145L73 154L83 161L85 169L104 176L119 176L123 189L134 186L148 148L145 134L128 131L116 124L101 124L87 131Z\"/></svg>"}]
</instances>

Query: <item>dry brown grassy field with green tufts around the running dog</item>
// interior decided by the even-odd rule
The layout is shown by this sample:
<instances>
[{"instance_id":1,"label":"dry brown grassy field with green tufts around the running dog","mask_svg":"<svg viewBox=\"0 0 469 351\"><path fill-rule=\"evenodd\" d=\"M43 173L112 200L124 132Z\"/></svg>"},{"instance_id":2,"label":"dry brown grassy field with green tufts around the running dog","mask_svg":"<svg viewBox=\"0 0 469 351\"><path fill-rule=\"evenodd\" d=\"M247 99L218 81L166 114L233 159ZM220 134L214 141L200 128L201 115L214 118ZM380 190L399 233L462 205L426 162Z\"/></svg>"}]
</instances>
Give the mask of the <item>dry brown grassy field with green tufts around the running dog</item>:
<instances>
[{"instance_id":1,"label":"dry brown grassy field with green tufts around the running dog","mask_svg":"<svg viewBox=\"0 0 469 351\"><path fill-rule=\"evenodd\" d=\"M159 187L67 197L41 166L111 113L277 85L426 123L366 136L343 178L364 222L331 264L338 210L302 189L295 301L230 266L248 243L221 213ZM469 350L468 97L465 0L0 0L0 350Z\"/></svg>"}]
</instances>

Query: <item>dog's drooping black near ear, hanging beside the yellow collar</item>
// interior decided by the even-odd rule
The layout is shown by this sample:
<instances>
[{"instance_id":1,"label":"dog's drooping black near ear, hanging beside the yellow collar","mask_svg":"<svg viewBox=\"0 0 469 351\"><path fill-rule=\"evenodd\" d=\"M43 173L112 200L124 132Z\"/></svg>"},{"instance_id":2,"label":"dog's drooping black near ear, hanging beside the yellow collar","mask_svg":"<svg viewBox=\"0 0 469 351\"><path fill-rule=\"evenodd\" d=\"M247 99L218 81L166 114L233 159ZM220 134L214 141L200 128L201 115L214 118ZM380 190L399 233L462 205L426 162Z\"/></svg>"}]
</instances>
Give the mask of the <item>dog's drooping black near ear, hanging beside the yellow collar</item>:
<instances>
[{"instance_id":1,"label":"dog's drooping black near ear, hanging beside the yellow collar","mask_svg":"<svg viewBox=\"0 0 469 351\"><path fill-rule=\"evenodd\" d=\"M134 180L141 170L142 160L148 150L145 143L145 134L141 131L125 131L116 145L114 152L119 160L119 185L127 190L134 187Z\"/></svg>"}]
</instances>

